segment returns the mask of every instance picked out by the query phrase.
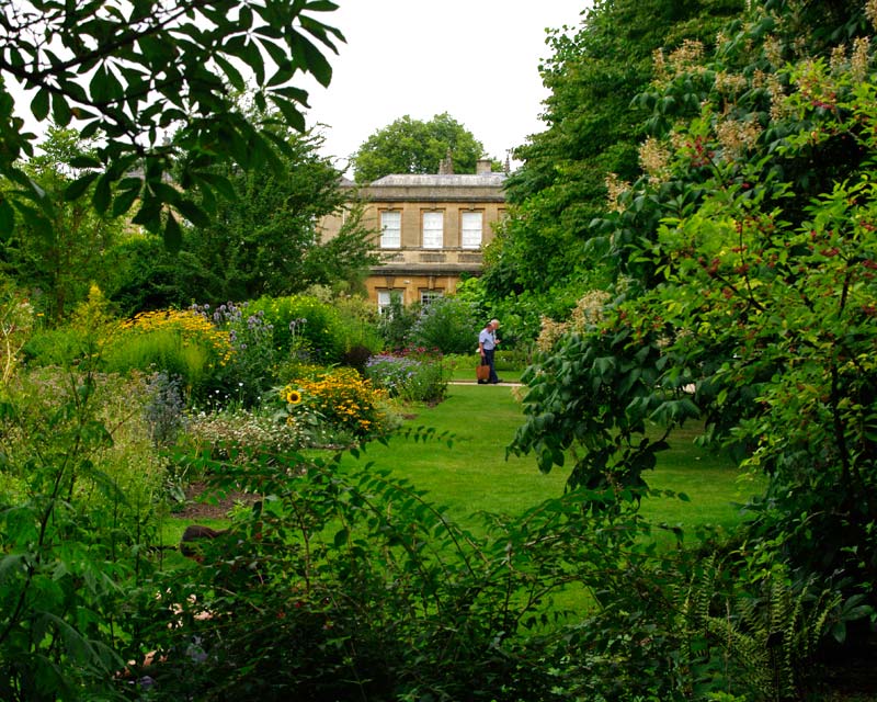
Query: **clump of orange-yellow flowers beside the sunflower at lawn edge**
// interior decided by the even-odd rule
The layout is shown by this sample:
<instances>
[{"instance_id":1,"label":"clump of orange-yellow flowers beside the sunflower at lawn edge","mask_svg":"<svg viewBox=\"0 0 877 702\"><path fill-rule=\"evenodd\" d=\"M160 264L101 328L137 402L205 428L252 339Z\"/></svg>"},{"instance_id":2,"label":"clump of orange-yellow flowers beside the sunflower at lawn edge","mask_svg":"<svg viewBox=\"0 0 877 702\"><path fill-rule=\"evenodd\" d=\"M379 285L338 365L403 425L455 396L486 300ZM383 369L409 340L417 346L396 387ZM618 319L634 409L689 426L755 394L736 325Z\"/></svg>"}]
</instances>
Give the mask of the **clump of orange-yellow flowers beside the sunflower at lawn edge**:
<instances>
[{"instance_id":1,"label":"clump of orange-yellow flowers beside the sunflower at lawn edge","mask_svg":"<svg viewBox=\"0 0 877 702\"><path fill-rule=\"evenodd\" d=\"M364 439L384 433L389 420L380 407L386 393L375 389L353 369L332 369L304 375L280 389L287 422L318 419L333 430Z\"/></svg>"}]
</instances>

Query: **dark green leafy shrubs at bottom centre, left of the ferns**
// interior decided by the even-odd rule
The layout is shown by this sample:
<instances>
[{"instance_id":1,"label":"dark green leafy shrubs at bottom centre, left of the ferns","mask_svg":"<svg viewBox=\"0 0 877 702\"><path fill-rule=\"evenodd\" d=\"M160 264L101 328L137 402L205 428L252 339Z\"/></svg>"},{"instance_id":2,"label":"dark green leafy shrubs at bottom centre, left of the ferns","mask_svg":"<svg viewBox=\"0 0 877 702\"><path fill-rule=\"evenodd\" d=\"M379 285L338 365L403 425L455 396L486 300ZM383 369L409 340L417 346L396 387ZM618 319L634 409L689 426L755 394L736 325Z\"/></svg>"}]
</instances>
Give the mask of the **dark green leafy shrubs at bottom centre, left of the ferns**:
<instances>
[{"instance_id":1,"label":"dark green leafy shrubs at bottom centre, left of the ferns","mask_svg":"<svg viewBox=\"0 0 877 702\"><path fill-rule=\"evenodd\" d=\"M620 585L636 519L599 529L570 495L521 520L485 516L496 536L479 543L373 467L303 465L255 452L242 467L208 466L215 489L251 486L266 499L229 540L205 544L201 568L144 602L143 635L168 656L137 673L155 680L155 699L182 686L205 700L563 699L581 672L551 659L565 637L528 632L549 626L563 584ZM583 553L599 564L578 569ZM169 602L185 603L180 627L167 626ZM210 619L195 618L203 611ZM195 660L193 635L205 653Z\"/></svg>"}]
</instances>

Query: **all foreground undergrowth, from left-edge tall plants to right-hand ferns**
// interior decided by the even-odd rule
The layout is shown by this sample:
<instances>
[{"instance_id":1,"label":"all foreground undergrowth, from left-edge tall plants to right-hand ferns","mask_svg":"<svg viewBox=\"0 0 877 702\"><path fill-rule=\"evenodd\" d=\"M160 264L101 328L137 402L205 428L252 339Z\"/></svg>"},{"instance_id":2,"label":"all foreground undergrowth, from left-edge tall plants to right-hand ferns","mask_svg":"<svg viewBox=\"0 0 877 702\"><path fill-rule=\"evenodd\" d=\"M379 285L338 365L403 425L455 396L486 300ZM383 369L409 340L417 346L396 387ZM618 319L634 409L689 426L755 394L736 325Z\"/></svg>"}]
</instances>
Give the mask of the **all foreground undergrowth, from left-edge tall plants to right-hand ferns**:
<instances>
[{"instance_id":1,"label":"all foreground undergrowth, from left-edge tall plants to right-hand ferns","mask_svg":"<svg viewBox=\"0 0 877 702\"><path fill-rule=\"evenodd\" d=\"M734 542L658 545L634 494L485 512L475 535L368 451L193 451L185 424L157 442L146 385L46 369L5 387L4 699L791 699L861 614L755 577ZM253 496L198 565L162 565L171 476Z\"/></svg>"}]
</instances>

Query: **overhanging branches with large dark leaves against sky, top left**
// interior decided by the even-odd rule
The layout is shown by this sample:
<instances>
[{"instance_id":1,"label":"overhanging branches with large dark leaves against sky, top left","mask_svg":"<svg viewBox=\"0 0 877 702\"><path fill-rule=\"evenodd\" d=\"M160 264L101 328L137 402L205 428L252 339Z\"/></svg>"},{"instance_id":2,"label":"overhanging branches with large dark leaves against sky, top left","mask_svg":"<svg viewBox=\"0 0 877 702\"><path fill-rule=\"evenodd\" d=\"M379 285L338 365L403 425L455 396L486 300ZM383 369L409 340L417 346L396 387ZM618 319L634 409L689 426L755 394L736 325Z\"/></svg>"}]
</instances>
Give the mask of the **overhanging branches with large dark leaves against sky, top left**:
<instances>
[{"instance_id":1,"label":"overhanging branches with large dark leaves against sky, top left","mask_svg":"<svg viewBox=\"0 0 877 702\"><path fill-rule=\"evenodd\" d=\"M32 91L27 111L37 122L52 116L59 127L76 124L82 138L100 137L93 156L77 159L90 170L68 186L69 199L93 185L98 214L134 208L136 224L178 247L181 217L204 219L200 206L230 190L212 170L216 162L280 166L270 129L246 118L229 86L242 91L252 81L260 109L271 105L304 129L307 93L294 81L298 71L323 86L331 80L322 50L335 50L343 37L316 15L335 8L326 0L3 3L0 176L14 188L0 200L0 234L11 230L14 211L34 228L49 228L54 216L53 203L16 166L33 157L36 137L14 113L13 83ZM180 154L172 188L166 176ZM208 196L198 205L191 191Z\"/></svg>"}]
</instances>

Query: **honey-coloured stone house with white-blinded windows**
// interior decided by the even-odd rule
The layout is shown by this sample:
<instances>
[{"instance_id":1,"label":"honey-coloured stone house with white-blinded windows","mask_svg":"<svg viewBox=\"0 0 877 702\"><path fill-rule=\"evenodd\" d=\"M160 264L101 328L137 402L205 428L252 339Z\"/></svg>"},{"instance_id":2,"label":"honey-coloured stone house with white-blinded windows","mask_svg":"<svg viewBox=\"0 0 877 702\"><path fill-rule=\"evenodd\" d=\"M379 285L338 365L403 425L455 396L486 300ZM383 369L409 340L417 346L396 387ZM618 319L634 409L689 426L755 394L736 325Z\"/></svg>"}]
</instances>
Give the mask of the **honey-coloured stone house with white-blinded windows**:
<instances>
[{"instance_id":1,"label":"honey-coloured stone house with white-blinded windows","mask_svg":"<svg viewBox=\"0 0 877 702\"><path fill-rule=\"evenodd\" d=\"M366 281L376 304L390 295L410 304L451 294L463 273L480 273L481 250L505 212L506 174L490 172L490 161L479 161L474 174L448 170L443 163L437 174L386 176L355 190L383 258ZM353 183L345 186L354 191ZM342 217L321 223L323 239L338 233Z\"/></svg>"}]
</instances>

